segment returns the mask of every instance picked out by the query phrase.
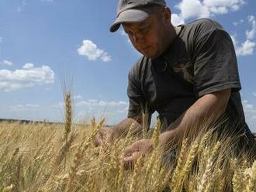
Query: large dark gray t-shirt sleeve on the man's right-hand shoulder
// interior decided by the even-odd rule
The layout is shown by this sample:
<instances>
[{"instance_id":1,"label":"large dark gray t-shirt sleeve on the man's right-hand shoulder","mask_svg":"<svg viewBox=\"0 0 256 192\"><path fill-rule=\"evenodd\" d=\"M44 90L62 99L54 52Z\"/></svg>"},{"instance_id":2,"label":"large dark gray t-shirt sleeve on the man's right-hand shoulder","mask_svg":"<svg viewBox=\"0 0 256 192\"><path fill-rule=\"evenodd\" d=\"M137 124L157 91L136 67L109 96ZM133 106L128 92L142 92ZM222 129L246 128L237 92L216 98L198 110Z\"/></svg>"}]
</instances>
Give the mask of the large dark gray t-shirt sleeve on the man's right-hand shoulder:
<instances>
[{"instance_id":1,"label":"large dark gray t-shirt sleeve on the man's right-hand shoulder","mask_svg":"<svg viewBox=\"0 0 256 192\"><path fill-rule=\"evenodd\" d=\"M199 97L231 88L240 91L237 57L232 39L222 29L206 33L195 43L195 90Z\"/></svg>"}]
</instances>

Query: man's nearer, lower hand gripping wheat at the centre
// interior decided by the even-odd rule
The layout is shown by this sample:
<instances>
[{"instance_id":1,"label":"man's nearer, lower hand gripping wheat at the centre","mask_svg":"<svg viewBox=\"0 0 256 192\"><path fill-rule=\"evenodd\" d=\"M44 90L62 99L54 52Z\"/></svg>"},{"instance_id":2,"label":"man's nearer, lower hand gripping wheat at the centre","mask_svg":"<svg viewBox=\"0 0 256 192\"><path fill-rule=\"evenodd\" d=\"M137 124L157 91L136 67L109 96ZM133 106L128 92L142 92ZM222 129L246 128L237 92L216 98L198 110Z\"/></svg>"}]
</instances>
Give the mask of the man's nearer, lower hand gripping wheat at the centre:
<instances>
[{"instance_id":1,"label":"man's nearer, lower hand gripping wheat at the centre","mask_svg":"<svg viewBox=\"0 0 256 192\"><path fill-rule=\"evenodd\" d=\"M140 156L145 156L146 153L150 153L153 149L153 141L151 139L142 139L137 142L133 142L130 146L124 150L124 166L126 169L133 169L134 164Z\"/></svg>"}]
</instances>

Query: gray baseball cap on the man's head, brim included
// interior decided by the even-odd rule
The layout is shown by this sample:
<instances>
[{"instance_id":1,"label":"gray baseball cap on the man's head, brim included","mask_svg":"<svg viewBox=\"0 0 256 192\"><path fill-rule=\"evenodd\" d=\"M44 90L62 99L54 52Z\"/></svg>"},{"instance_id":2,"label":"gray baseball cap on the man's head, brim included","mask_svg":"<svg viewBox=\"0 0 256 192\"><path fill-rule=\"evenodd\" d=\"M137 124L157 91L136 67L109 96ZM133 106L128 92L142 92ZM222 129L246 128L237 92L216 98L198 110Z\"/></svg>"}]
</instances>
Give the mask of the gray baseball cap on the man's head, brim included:
<instances>
[{"instance_id":1,"label":"gray baseball cap on the man's head, brim included","mask_svg":"<svg viewBox=\"0 0 256 192\"><path fill-rule=\"evenodd\" d=\"M164 0L119 0L116 21L110 27L110 32L119 29L122 22L142 22L153 11L150 5L166 6Z\"/></svg>"}]
</instances>

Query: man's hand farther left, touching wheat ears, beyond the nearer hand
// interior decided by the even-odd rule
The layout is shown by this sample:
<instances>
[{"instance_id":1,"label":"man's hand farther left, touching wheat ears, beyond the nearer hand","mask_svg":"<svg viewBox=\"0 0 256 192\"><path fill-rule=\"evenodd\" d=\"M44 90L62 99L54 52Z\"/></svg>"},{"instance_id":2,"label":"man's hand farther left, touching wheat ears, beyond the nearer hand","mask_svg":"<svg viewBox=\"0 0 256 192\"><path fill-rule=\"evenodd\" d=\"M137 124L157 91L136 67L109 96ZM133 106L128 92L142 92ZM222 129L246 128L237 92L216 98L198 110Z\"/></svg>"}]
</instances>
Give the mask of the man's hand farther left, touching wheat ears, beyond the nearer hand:
<instances>
[{"instance_id":1,"label":"man's hand farther left, touching wheat ears, beyond the nearer hand","mask_svg":"<svg viewBox=\"0 0 256 192\"><path fill-rule=\"evenodd\" d=\"M116 132L112 128L103 127L99 130L94 139L95 146L101 146L103 142L110 143L116 137Z\"/></svg>"}]
</instances>

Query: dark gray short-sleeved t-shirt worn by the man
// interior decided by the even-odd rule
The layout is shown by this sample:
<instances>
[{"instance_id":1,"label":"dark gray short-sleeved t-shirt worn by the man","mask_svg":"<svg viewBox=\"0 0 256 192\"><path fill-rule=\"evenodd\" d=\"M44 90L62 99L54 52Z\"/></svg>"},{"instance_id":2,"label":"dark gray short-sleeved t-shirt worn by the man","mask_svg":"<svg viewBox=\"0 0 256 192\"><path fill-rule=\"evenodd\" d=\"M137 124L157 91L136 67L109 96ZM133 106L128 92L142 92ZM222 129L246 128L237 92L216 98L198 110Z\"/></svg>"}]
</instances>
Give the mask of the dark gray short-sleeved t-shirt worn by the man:
<instances>
[{"instance_id":1,"label":"dark gray short-sleeved t-shirt worn by the man","mask_svg":"<svg viewBox=\"0 0 256 192\"><path fill-rule=\"evenodd\" d=\"M251 135L240 99L237 57L229 34L218 22L199 19L182 29L161 57L141 57L131 68L128 118L147 107L168 128L204 94L231 88L225 114Z\"/></svg>"}]
</instances>

